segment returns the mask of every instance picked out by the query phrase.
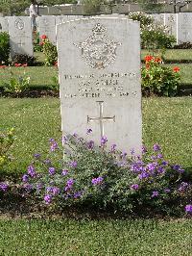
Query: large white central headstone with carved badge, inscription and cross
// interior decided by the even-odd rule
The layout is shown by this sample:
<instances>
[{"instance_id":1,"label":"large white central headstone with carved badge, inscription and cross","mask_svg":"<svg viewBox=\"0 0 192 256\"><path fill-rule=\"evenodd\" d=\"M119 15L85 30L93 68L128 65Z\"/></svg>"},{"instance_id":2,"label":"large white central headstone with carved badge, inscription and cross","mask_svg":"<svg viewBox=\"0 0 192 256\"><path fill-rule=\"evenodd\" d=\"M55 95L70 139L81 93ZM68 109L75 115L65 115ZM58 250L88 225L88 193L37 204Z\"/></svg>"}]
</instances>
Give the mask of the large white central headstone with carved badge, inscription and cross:
<instances>
[{"instance_id":1,"label":"large white central headstone with carved badge, inscription and cross","mask_svg":"<svg viewBox=\"0 0 192 256\"><path fill-rule=\"evenodd\" d=\"M61 126L64 135L129 152L141 148L139 23L92 17L57 26Z\"/></svg>"}]
</instances>

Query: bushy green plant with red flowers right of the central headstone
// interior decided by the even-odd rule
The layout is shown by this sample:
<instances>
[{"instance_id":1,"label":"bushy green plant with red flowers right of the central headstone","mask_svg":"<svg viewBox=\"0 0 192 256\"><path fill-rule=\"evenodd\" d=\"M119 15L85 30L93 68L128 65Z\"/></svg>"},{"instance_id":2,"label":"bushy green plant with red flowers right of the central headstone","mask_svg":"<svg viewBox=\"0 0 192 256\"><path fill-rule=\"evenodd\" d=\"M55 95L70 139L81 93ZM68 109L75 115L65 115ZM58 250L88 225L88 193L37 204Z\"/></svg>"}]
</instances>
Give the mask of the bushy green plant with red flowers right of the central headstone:
<instances>
[{"instance_id":1,"label":"bushy green plant with red flowers right of the central headstone","mask_svg":"<svg viewBox=\"0 0 192 256\"><path fill-rule=\"evenodd\" d=\"M142 90L149 94L174 96L180 84L180 67L173 69L162 64L158 57L145 57L145 66L141 69Z\"/></svg>"}]
</instances>

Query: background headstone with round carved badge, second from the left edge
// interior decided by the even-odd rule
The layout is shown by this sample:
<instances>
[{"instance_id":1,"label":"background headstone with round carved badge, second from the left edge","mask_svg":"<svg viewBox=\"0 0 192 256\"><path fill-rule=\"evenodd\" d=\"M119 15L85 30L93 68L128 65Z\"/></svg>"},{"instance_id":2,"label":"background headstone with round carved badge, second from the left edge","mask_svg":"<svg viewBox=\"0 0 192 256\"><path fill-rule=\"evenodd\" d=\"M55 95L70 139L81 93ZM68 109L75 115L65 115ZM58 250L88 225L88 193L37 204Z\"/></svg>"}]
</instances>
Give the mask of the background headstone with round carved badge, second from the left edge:
<instances>
[{"instance_id":1,"label":"background headstone with round carved badge, second from the left edge","mask_svg":"<svg viewBox=\"0 0 192 256\"><path fill-rule=\"evenodd\" d=\"M31 17L10 16L9 34L11 56L15 54L28 54L33 56L34 47Z\"/></svg>"}]
</instances>

